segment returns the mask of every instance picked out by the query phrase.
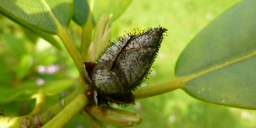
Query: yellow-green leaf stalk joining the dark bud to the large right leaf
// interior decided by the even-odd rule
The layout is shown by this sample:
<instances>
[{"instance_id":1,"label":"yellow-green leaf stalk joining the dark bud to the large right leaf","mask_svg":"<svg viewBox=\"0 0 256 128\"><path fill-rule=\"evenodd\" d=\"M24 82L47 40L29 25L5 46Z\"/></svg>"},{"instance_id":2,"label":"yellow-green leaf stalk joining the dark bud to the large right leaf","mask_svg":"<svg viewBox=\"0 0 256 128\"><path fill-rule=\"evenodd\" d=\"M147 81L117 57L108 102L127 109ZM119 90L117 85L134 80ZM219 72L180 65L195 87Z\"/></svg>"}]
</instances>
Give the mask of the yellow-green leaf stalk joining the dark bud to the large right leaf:
<instances>
[{"instance_id":1,"label":"yellow-green leaf stalk joining the dark bud to the large right leaf","mask_svg":"<svg viewBox=\"0 0 256 128\"><path fill-rule=\"evenodd\" d=\"M187 82L186 77L177 77L164 83L140 87L133 92L133 95L135 99L147 98L181 88L185 82Z\"/></svg>"}]
</instances>

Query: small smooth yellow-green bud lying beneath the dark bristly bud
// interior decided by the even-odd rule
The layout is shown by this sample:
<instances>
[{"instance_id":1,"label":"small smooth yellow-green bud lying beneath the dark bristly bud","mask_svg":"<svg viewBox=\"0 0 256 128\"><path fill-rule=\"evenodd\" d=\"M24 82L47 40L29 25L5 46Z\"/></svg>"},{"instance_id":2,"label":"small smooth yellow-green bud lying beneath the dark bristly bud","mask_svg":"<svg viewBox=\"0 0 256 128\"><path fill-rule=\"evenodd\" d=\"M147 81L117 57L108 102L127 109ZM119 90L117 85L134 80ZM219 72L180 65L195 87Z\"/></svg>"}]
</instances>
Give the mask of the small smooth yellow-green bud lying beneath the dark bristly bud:
<instances>
[{"instance_id":1,"label":"small smooth yellow-green bud lying beneath the dark bristly bud","mask_svg":"<svg viewBox=\"0 0 256 128\"><path fill-rule=\"evenodd\" d=\"M95 104L86 107L86 110L96 119L118 127L131 127L142 123L139 114L128 112L109 106L102 106L99 109Z\"/></svg>"}]
</instances>

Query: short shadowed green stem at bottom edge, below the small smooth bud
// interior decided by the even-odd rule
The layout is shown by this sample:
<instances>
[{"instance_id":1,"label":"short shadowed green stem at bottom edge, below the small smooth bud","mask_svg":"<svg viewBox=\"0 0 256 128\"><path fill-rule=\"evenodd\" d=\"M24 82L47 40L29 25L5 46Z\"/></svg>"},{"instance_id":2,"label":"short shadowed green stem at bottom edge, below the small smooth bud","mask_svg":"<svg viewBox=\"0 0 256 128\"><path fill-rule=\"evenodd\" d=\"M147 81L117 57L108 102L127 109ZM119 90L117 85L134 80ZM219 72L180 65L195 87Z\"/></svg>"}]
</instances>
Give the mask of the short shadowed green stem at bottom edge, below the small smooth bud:
<instances>
[{"instance_id":1,"label":"short shadowed green stem at bottom edge, below the small smooth bud","mask_svg":"<svg viewBox=\"0 0 256 128\"><path fill-rule=\"evenodd\" d=\"M105 126L102 125L101 122L93 117L90 113L88 113L85 108L81 111L81 113L88 120L92 128L105 128Z\"/></svg>"}]
</instances>

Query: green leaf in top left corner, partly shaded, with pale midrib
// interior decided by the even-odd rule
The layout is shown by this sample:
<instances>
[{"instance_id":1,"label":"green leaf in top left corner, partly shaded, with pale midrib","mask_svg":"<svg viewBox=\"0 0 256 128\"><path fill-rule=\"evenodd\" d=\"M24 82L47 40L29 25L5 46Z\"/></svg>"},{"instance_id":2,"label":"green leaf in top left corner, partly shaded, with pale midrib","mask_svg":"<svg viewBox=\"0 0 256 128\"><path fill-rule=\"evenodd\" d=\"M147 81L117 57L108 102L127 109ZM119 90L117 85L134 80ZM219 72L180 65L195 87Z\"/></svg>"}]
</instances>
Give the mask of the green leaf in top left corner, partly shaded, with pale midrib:
<instances>
[{"instance_id":1,"label":"green leaf in top left corner, partly shaded, with pale midrib","mask_svg":"<svg viewBox=\"0 0 256 128\"><path fill-rule=\"evenodd\" d=\"M25 28L57 34L72 18L72 0L1 0L0 12Z\"/></svg>"}]
</instances>

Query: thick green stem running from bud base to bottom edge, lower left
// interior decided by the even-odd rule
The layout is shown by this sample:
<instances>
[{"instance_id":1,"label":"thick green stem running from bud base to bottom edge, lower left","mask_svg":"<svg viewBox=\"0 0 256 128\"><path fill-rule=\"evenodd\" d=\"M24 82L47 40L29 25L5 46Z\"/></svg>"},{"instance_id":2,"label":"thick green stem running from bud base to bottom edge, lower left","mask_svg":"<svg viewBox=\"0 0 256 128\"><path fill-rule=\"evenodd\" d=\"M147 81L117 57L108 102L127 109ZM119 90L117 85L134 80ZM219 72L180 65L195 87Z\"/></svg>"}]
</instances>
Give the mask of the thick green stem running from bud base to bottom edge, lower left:
<instances>
[{"instance_id":1,"label":"thick green stem running from bud base to bottom edge, lower left","mask_svg":"<svg viewBox=\"0 0 256 128\"><path fill-rule=\"evenodd\" d=\"M48 123L44 124L41 128L62 128L76 116L89 102L84 93L79 93L78 96L70 102L59 114L54 116Z\"/></svg>"}]
</instances>

